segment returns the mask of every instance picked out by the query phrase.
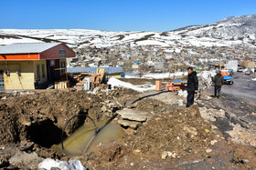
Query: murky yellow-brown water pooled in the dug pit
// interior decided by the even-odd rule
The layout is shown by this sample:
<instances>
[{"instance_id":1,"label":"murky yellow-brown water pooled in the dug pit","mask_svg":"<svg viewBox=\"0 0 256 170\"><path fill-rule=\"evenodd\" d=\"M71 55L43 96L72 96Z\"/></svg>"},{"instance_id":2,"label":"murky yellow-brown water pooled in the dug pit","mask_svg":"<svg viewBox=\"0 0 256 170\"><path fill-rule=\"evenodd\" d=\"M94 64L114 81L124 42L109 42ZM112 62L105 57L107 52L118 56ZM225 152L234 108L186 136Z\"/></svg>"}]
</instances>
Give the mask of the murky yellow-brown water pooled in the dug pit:
<instances>
[{"instance_id":1,"label":"murky yellow-brown water pooled in the dug pit","mask_svg":"<svg viewBox=\"0 0 256 170\"><path fill-rule=\"evenodd\" d=\"M99 128L103 123L96 125ZM123 135L123 129L115 122L106 125L98 135L95 135L93 125L82 125L64 141L64 153L67 155L82 155L85 150L91 152L103 145L110 145ZM53 145L52 148L62 150L61 144Z\"/></svg>"}]
</instances>

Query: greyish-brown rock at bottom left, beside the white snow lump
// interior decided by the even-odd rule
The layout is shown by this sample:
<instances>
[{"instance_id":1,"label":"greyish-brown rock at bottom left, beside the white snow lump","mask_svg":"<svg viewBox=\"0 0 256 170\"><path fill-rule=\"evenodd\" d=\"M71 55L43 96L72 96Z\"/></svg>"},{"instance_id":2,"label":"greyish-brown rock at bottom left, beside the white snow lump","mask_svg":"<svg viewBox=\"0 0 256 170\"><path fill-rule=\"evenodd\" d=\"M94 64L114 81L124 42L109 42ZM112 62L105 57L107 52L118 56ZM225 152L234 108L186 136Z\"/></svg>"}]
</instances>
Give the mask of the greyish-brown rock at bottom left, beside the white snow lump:
<instances>
[{"instance_id":1,"label":"greyish-brown rock at bottom left, beside the white snow lump","mask_svg":"<svg viewBox=\"0 0 256 170\"><path fill-rule=\"evenodd\" d=\"M18 151L9 159L10 165L22 169L37 169L37 165L44 158L39 157L35 152L27 154L26 152Z\"/></svg>"}]
</instances>

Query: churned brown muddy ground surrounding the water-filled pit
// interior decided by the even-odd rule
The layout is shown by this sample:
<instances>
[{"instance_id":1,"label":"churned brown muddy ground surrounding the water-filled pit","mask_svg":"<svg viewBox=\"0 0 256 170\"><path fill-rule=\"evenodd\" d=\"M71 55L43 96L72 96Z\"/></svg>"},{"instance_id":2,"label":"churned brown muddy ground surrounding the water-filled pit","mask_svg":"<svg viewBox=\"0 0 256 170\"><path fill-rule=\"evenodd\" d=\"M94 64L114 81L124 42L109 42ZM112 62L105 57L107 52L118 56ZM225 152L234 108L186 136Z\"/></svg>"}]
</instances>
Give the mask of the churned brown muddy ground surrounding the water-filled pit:
<instances>
[{"instance_id":1,"label":"churned brown muddy ground surrounding the water-filled pit","mask_svg":"<svg viewBox=\"0 0 256 170\"><path fill-rule=\"evenodd\" d=\"M0 168L33 169L47 157L79 159L89 169L256 168L255 103L234 95L215 99L209 88L189 108L176 105L176 100L186 99L174 93L131 105L154 93L116 88L94 94L56 90L1 94ZM59 144L61 130L72 116L90 115L102 121L127 106L153 116L136 130L123 128L123 138L91 153L70 156L50 148ZM84 121L90 123L85 116L71 121L65 136Z\"/></svg>"}]
</instances>

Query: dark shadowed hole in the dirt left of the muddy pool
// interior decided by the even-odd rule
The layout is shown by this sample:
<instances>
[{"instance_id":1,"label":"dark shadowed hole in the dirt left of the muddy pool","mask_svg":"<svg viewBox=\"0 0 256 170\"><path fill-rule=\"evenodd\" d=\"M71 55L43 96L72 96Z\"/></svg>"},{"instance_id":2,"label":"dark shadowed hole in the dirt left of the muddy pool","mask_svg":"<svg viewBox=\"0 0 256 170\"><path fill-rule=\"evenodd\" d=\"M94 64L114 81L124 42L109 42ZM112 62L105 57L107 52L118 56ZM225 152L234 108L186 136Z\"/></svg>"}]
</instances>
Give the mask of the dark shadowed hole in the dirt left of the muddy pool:
<instances>
[{"instance_id":1,"label":"dark shadowed hole in the dirt left of the muddy pool","mask_svg":"<svg viewBox=\"0 0 256 170\"><path fill-rule=\"evenodd\" d=\"M61 133L62 130L49 119L27 126L27 139L47 148L60 143Z\"/></svg>"}]
</instances>

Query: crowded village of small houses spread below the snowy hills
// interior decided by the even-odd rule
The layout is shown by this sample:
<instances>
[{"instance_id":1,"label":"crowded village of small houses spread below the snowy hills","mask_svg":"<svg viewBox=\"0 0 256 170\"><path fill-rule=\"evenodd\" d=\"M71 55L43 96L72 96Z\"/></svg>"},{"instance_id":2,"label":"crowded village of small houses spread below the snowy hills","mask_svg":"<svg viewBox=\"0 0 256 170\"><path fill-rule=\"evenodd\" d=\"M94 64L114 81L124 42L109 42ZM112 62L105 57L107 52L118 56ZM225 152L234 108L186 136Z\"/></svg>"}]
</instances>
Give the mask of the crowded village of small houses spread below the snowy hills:
<instances>
[{"instance_id":1,"label":"crowded village of small houses spread below the snowy hills","mask_svg":"<svg viewBox=\"0 0 256 170\"><path fill-rule=\"evenodd\" d=\"M108 67L122 66L124 72L138 74L138 70L144 73L172 72L186 69L187 65L195 65L205 70L211 65L228 64L229 60L237 60L243 69L254 69L252 61L256 60L253 48L243 46L213 46L197 47L183 46L176 52L175 46L161 47L158 45L115 45L111 47L74 49L77 57L73 58L70 66L80 67ZM244 61L249 61L244 62ZM214 67L214 66L213 66Z\"/></svg>"}]
</instances>

